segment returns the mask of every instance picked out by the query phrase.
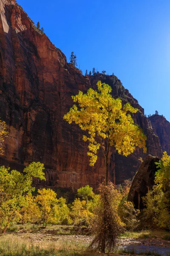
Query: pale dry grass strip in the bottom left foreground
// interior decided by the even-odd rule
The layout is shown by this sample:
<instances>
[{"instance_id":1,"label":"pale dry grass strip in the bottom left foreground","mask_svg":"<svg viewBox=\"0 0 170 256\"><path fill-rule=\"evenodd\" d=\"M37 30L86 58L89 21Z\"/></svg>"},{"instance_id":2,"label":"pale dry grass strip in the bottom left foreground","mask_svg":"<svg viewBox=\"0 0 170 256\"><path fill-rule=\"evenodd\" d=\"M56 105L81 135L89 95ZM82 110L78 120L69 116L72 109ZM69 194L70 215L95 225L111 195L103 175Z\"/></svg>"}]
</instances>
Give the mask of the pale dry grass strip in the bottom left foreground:
<instances>
[{"instance_id":1,"label":"pale dry grass strip in the bottom left foreground","mask_svg":"<svg viewBox=\"0 0 170 256\"><path fill-rule=\"evenodd\" d=\"M0 236L0 256L97 256L86 251L87 244L75 241L32 242L29 234L21 238L15 235Z\"/></svg>"}]
</instances>

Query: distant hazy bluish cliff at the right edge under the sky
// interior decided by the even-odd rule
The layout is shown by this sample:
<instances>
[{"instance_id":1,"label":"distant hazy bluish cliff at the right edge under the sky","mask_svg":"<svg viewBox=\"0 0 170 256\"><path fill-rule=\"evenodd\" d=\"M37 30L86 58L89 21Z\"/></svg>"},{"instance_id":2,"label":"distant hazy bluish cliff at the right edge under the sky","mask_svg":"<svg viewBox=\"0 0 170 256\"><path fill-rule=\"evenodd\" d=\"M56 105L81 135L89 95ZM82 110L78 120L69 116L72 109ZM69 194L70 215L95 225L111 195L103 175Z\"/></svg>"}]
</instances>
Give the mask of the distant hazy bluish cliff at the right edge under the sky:
<instances>
[{"instance_id":1,"label":"distant hazy bluish cliff at the right edge under the sky","mask_svg":"<svg viewBox=\"0 0 170 256\"><path fill-rule=\"evenodd\" d=\"M149 120L154 133L159 137L162 151L170 155L170 122L160 115L150 116Z\"/></svg>"}]
</instances>

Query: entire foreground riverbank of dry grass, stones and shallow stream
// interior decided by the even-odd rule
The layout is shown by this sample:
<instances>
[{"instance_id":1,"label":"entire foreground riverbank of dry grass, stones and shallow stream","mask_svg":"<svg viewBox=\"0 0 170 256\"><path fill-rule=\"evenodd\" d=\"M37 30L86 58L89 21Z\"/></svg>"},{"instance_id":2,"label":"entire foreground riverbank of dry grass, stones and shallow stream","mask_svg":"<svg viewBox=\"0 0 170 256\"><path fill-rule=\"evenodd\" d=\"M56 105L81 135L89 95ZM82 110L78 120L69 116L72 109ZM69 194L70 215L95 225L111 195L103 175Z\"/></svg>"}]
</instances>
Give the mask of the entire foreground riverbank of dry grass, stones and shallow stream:
<instances>
[{"instance_id":1,"label":"entire foreground riverbank of dry grass, stones and shallow stream","mask_svg":"<svg viewBox=\"0 0 170 256\"><path fill-rule=\"evenodd\" d=\"M71 230L73 231L74 227L57 226L47 229L23 227L23 229L19 228L17 232L8 232L0 236L0 256L102 255L87 251L93 236L71 235ZM85 232L84 228L82 230ZM152 231L125 233L119 237L118 249L115 250L115 253L119 255L143 253L143 255L170 256L170 241L163 239L168 234Z\"/></svg>"}]
</instances>

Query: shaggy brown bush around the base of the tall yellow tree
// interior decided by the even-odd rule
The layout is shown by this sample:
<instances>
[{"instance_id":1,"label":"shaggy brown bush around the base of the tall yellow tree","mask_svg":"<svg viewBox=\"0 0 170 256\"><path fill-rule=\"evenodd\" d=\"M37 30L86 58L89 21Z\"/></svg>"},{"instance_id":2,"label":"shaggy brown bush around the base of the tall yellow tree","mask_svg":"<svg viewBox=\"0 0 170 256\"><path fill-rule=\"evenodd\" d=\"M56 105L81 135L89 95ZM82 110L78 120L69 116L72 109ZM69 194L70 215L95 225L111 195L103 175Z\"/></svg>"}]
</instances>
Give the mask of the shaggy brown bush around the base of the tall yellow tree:
<instances>
[{"instance_id":1,"label":"shaggy brown bush around the base of the tall yellow tree","mask_svg":"<svg viewBox=\"0 0 170 256\"><path fill-rule=\"evenodd\" d=\"M93 224L96 236L89 248L105 253L105 250L111 252L116 247L118 235L122 230L122 223L118 215L119 192L113 183L109 183L108 186L100 184L99 192L101 200L99 206L96 207Z\"/></svg>"}]
</instances>

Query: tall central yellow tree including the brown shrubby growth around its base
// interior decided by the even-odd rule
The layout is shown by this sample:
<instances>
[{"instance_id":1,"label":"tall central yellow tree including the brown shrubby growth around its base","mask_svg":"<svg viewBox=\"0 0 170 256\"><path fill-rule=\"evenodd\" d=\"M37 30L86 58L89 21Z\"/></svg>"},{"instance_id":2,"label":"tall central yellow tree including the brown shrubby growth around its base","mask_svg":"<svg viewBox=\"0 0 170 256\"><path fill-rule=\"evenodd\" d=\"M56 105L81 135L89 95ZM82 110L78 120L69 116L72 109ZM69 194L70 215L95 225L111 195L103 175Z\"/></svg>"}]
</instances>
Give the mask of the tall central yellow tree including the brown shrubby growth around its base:
<instances>
[{"instance_id":1,"label":"tall central yellow tree including the brown shrubby growth around its base","mask_svg":"<svg viewBox=\"0 0 170 256\"><path fill-rule=\"evenodd\" d=\"M90 156L90 166L94 166L97 152L100 147L102 148L105 159L105 186L100 186L102 208L96 218L96 237L90 247L92 250L105 253L106 249L111 250L115 247L116 238L121 230L116 209L111 203L111 198L116 192L111 184L108 186L109 150L114 146L119 154L127 156L138 146L146 152L146 136L130 115L136 113L137 108L133 108L130 103L122 106L121 99L112 97L112 89L108 84L98 81L97 88L90 88L87 93L79 91L76 96L72 96L76 104L64 115L64 119L69 123L75 122L83 131L87 131L88 136L86 133L82 139L88 141L87 154Z\"/></svg>"}]
</instances>

